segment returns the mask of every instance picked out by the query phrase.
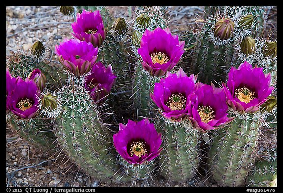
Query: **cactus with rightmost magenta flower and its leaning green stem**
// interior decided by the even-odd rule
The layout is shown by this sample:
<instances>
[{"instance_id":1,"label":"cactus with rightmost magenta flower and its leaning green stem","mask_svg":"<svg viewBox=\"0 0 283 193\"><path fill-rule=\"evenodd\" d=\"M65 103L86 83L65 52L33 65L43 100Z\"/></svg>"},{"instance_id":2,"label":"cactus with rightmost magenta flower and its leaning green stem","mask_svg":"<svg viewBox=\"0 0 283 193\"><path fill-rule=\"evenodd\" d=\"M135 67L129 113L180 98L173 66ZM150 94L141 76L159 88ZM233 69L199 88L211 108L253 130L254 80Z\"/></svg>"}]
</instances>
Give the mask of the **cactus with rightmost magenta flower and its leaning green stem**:
<instances>
[{"instance_id":1,"label":"cactus with rightmost magenta flower and its leaning green stem","mask_svg":"<svg viewBox=\"0 0 283 193\"><path fill-rule=\"evenodd\" d=\"M218 130L208 155L211 175L222 186L244 185L255 162L263 122L258 110L274 89L269 86L270 79L270 74L265 75L262 68L252 68L244 62L238 69L231 68L228 89L223 83L227 104L235 119Z\"/></svg>"}]
</instances>

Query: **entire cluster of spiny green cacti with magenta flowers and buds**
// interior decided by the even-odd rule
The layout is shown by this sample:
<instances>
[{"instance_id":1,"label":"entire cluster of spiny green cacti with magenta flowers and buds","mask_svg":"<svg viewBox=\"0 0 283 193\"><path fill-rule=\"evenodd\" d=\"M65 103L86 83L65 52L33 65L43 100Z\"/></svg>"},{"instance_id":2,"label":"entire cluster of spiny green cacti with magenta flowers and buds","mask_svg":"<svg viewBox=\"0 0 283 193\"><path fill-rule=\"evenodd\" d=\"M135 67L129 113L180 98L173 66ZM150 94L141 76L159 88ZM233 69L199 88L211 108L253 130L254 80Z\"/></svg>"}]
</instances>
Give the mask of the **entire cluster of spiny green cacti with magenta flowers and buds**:
<instances>
[{"instance_id":1,"label":"entire cluster of spiny green cacti with magenta flowers and buds","mask_svg":"<svg viewBox=\"0 0 283 193\"><path fill-rule=\"evenodd\" d=\"M219 186L274 186L276 147L258 156L277 128L268 10L205 7L178 36L167 7L60 7L74 22L58 61L40 41L7 57L7 124L99 180L188 186L205 168Z\"/></svg>"}]
</instances>

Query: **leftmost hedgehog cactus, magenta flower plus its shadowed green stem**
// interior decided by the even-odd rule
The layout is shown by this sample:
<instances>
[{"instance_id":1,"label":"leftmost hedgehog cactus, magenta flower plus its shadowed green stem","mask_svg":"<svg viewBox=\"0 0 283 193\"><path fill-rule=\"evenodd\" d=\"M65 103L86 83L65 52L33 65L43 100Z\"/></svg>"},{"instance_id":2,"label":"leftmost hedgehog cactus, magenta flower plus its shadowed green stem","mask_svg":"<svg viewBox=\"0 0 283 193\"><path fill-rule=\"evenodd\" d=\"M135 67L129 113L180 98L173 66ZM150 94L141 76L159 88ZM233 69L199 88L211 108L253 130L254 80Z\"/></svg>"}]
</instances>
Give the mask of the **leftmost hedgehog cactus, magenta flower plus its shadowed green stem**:
<instances>
[{"instance_id":1,"label":"leftmost hedgehog cactus, magenta flower plus its shadowed green stem","mask_svg":"<svg viewBox=\"0 0 283 193\"><path fill-rule=\"evenodd\" d=\"M37 69L37 73L41 74L40 70ZM54 149L57 145L52 132L55 117L42 115L44 106L41 99L45 96L40 92L42 87L34 79L14 78L9 73L6 80L6 109L9 111L7 124L35 146Z\"/></svg>"}]
</instances>

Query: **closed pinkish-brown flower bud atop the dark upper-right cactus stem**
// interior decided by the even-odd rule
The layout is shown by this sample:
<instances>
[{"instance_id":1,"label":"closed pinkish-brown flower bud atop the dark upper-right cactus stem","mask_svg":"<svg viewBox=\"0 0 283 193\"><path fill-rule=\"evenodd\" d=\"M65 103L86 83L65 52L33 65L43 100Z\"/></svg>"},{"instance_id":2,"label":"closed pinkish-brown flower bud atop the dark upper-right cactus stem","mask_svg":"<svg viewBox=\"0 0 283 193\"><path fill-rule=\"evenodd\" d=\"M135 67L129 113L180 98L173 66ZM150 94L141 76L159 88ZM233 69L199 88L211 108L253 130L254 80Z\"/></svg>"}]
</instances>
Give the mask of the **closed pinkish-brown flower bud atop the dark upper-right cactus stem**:
<instances>
[{"instance_id":1,"label":"closed pinkish-brown flower bud atop the dark upper-right cactus stem","mask_svg":"<svg viewBox=\"0 0 283 193\"><path fill-rule=\"evenodd\" d=\"M214 37L221 40L229 39L234 32L235 24L230 18L220 19L214 26Z\"/></svg>"}]
</instances>

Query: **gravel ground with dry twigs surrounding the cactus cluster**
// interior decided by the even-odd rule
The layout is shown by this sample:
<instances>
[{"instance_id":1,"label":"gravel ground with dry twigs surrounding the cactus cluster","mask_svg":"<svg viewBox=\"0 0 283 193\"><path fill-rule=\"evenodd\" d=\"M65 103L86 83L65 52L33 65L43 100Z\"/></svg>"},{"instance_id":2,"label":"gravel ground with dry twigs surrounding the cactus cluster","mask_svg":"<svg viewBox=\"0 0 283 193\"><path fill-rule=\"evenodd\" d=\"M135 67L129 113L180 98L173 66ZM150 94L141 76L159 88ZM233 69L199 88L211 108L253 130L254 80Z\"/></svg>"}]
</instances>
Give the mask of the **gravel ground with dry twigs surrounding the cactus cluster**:
<instances>
[{"instance_id":1,"label":"gravel ground with dry twigs surrounding the cactus cluster","mask_svg":"<svg viewBox=\"0 0 283 193\"><path fill-rule=\"evenodd\" d=\"M115 16L128 17L128 7L109 7L109 9ZM202 13L203 7L190 7L190 9L169 7L172 33L187 29L194 20L200 18ZM58 61L54 54L54 46L64 38L72 38L70 34L72 22L73 18L62 15L59 7L6 7L6 55L11 55L12 50L28 51L33 42L41 40L48 50L48 57ZM274 138L276 136L270 140ZM189 183L192 186L217 186L207 179ZM13 187L128 186L92 179L70 162L64 154L56 157L52 152L35 148L9 127L6 128L6 185ZM163 186L163 182L151 185Z\"/></svg>"}]
</instances>

